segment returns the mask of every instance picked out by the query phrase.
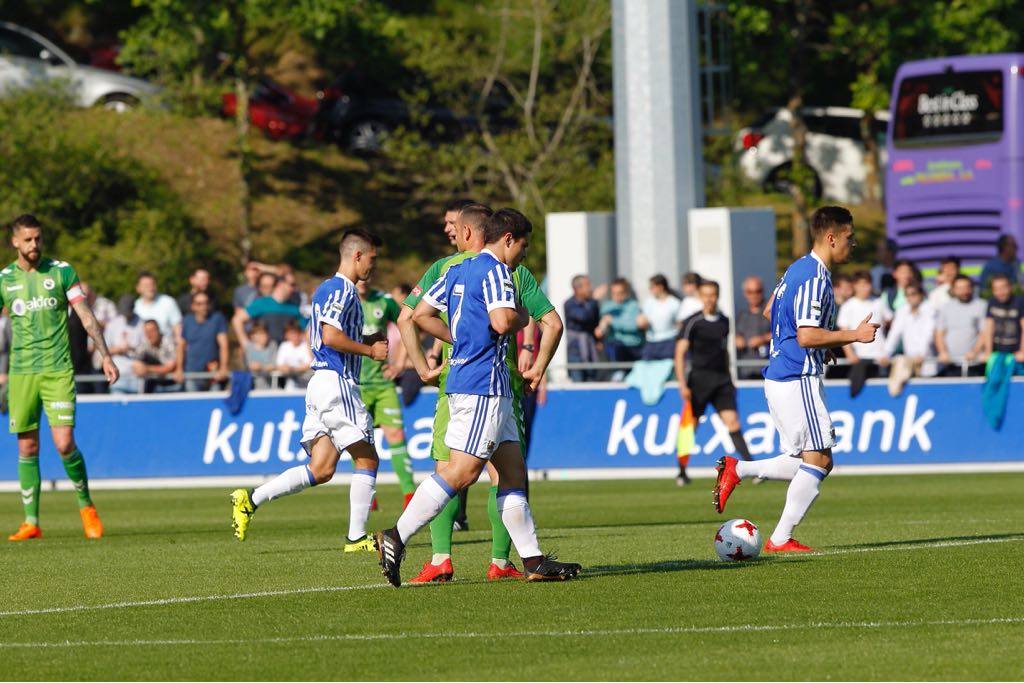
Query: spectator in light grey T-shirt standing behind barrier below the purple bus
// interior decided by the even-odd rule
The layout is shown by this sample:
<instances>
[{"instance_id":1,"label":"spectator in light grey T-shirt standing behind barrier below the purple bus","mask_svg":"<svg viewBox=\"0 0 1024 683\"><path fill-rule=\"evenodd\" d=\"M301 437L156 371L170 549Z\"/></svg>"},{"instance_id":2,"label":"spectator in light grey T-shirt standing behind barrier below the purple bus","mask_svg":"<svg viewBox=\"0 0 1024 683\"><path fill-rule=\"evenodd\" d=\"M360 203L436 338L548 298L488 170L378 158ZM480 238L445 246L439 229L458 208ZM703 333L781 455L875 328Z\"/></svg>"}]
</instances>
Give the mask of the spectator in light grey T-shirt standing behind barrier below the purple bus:
<instances>
[{"instance_id":1,"label":"spectator in light grey T-shirt standing behind barrier below the purple bus","mask_svg":"<svg viewBox=\"0 0 1024 683\"><path fill-rule=\"evenodd\" d=\"M967 275L957 274L952 281L952 298L938 309L935 318L935 350L939 372L947 377L962 374L953 360L977 360L985 348L984 335L987 304L974 298L974 283ZM928 300L932 302L931 298ZM980 367L968 368L968 375L981 376Z\"/></svg>"}]
</instances>

